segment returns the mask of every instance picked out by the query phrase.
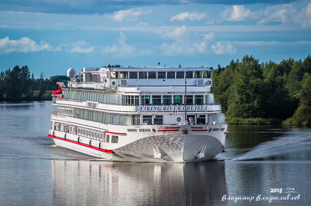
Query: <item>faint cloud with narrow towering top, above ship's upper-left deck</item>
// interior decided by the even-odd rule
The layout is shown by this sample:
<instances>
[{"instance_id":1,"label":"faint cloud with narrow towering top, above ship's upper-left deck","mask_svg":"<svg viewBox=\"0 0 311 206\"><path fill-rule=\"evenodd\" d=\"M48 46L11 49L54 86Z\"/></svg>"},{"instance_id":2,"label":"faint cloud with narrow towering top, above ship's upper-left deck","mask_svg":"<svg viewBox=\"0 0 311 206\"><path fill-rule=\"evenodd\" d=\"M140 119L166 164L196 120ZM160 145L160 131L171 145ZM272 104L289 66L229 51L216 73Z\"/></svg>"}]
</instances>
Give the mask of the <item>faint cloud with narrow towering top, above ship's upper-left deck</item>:
<instances>
[{"instance_id":1,"label":"faint cloud with narrow towering top, above ship's upper-left deck","mask_svg":"<svg viewBox=\"0 0 311 206\"><path fill-rule=\"evenodd\" d=\"M130 57L153 55L155 53L154 50L150 49L137 50L135 47L128 45L125 42L126 40L128 40L128 37L123 32L120 32L120 37L115 40L118 44L106 46L102 54L113 54L117 57Z\"/></svg>"}]
</instances>

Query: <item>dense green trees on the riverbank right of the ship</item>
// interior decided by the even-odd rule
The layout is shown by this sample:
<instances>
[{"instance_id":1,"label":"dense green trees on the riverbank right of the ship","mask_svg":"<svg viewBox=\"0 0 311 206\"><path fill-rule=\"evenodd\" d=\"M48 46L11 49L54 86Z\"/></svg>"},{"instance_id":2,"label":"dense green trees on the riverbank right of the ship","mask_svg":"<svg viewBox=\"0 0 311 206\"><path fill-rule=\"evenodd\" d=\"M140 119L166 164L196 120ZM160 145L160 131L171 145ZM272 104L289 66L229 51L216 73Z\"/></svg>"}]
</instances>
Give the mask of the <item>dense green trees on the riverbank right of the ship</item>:
<instances>
[{"instance_id":1,"label":"dense green trees on the riverbank right of the ship","mask_svg":"<svg viewBox=\"0 0 311 206\"><path fill-rule=\"evenodd\" d=\"M233 118L277 118L283 124L310 125L311 58L279 64L245 55L213 73L212 92L222 112Z\"/></svg>"}]
</instances>

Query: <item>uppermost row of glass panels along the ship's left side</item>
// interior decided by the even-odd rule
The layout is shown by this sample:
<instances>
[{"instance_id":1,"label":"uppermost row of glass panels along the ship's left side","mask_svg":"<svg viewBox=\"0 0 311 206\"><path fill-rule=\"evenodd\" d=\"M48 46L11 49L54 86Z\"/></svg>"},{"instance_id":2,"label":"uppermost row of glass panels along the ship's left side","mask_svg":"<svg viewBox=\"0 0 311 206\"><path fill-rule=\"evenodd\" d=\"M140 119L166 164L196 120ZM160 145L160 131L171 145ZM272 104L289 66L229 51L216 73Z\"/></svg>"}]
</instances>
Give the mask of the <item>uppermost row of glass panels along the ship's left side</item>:
<instances>
[{"instance_id":1,"label":"uppermost row of glass panels along the ship's left side","mask_svg":"<svg viewBox=\"0 0 311 206\"><path fill-rule=\"evenodd\" d=\"M117 104L118 96L96 90L63 90L64 98Z\"/></svg>"}]
</instances>

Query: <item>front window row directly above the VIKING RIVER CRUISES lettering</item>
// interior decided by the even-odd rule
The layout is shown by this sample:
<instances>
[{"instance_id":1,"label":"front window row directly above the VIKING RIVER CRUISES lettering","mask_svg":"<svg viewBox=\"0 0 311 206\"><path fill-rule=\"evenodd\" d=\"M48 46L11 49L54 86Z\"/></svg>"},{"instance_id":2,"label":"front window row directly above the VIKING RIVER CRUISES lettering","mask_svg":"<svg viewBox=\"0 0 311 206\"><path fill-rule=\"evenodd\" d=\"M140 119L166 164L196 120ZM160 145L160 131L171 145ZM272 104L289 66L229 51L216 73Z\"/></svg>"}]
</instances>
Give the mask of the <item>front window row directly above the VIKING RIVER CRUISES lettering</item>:
<instances>
[{"instance_id":1,"label":"front window row directly above the VIKING RIVER CRUISES lettering","mask_svg":"<svg viewBox=\"0 0 311 206\"><path fill-rule=\"evenodd\" d=\"M184 97L184 95L142 95L141 101L143 105L181 105L184 104ZM203 105L203 98L204 95L186 95L186 105Z\"/></svg>"}]
</instances>

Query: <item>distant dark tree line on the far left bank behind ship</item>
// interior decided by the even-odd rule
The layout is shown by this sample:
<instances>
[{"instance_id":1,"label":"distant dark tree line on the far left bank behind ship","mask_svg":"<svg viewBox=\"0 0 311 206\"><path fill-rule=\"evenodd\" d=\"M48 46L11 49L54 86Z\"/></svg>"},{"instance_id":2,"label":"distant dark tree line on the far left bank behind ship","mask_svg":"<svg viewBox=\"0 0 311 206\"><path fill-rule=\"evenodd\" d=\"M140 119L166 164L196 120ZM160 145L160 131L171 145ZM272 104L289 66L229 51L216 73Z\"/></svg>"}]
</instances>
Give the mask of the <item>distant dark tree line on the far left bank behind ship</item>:
<instances>
[{"instance_id":1,"label":"distant dark tree line on the far left bank behind ship","mask_svg":"<svg viewBox=\"0 0 311 206\"><path fill-rule=\"evenodd\" d=\"M41 72L39 78L25 66L16 65L12 70L7 69L0 73L0 101L35 101L51 100L52 93L45 95L46 91L57 90L56 82L67 84L67 76L53 76L44 79Z\"/></svg>"}]
</instances>

